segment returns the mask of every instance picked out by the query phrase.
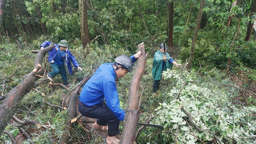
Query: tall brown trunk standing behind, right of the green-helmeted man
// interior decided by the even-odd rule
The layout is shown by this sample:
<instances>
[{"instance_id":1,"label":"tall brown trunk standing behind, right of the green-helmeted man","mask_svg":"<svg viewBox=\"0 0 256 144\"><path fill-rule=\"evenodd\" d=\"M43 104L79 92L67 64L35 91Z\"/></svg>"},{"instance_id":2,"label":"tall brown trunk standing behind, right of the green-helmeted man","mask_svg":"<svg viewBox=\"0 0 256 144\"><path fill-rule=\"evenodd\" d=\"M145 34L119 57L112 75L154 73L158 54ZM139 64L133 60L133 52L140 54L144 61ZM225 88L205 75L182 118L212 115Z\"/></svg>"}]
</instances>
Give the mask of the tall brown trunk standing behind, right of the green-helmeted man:
<instances>
[{"instance_id":1,"label":"tall brown trunk standing behind, right of the green-helmeted man","mask_svg":"<svg viewBox=\"0 0 256 144\"><path fill-rule=\"evenodd\" d=\"M88 30L88 21L87 21L86 0L78 0L78 4L79 4L81 39L82 39L82 45L85 48L86 45L90 43L89 30Z\"/></svg>"}]
</instances>

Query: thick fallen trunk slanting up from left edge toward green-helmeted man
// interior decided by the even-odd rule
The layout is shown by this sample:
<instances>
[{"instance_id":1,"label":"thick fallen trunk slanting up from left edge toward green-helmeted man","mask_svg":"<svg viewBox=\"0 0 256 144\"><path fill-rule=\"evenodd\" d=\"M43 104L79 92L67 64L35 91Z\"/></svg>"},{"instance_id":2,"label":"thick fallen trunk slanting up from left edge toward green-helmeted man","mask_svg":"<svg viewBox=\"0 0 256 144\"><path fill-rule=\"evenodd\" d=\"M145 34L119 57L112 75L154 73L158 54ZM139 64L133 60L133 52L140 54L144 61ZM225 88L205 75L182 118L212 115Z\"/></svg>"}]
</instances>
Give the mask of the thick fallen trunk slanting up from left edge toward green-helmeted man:
<instances>
[{"instance_id":1,"label":"thick fallen trunk slanting up from left edge toward green-helmeted man","mask_svg":"<svg viewBox=\"0 0 256 144\"><path fill-rule=\"evenodd\" d=\"M28 93L39 78L44 74L42 70L42 60L46 53L54 48L52 43L49 47L44 50L38 50L36 59L34 62L34 69L32 72L24 76L20 84L10 90L4 95L4 99L0 105L0 134L4 132L4 128L7 126L8 122L17 111L18 106L26 93Z\"/></svg>"}]
</instances>

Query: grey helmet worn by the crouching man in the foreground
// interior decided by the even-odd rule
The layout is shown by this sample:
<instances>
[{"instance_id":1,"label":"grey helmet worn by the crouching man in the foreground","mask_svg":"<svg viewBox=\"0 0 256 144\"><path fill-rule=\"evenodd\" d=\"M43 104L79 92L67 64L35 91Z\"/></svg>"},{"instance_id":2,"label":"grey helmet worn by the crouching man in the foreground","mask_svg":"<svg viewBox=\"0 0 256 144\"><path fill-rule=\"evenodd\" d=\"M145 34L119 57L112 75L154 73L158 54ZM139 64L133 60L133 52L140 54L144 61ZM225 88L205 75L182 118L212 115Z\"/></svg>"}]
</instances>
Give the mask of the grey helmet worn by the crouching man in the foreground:
<instances>
[{"instance_id":1,"label":"grey helmet worn by the crouching man in the foreground","mask_svg":"<svg viewBox=\"0 0 256 144\"><path fill-rule=\"evenodd\" d=\"M116 57L116 63L121 64L126 70L131 72L133 69L134 62L127 55L120 55Z\"/></svg>"}]
</instances>

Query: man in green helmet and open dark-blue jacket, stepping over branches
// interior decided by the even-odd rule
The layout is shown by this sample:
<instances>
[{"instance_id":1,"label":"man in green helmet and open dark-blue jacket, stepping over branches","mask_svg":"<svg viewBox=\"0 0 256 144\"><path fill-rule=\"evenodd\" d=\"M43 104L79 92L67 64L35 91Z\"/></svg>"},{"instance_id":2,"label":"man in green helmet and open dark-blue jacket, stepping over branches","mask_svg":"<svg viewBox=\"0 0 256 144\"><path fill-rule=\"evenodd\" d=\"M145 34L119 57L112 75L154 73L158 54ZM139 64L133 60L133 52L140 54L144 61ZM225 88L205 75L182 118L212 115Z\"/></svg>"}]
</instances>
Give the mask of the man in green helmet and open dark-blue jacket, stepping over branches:
<instances>
[{"instance_id":1,"label":"man in green helmet and open dark-blue jacket, stepping over branches","mask_svg":"<svg viewBox=\"0 0 256 144\"><path fill-rule=\"evenodd\" d=\"M42 43L42 45L40 45L40 48L44 49L48 47L51 43L52 42L50 41L45 41L44 43ZM58 45L55 43L54 45L55 47L48 53L48 60L52 66L52 72L47 74L47 78L50 81L53 81L52 78L57 74L60 74L64 85L70 86L70 84L68 83L68 76L64 64L68 67L68 71L70 74L73 74L71 62L78 70L82 70L82 68L76 61L74 55L68 50L68 47L70 47L70 45L68 45L68 41L63 39L60 41L60 43L58 43Z\"/></svg>"}]
</instances>

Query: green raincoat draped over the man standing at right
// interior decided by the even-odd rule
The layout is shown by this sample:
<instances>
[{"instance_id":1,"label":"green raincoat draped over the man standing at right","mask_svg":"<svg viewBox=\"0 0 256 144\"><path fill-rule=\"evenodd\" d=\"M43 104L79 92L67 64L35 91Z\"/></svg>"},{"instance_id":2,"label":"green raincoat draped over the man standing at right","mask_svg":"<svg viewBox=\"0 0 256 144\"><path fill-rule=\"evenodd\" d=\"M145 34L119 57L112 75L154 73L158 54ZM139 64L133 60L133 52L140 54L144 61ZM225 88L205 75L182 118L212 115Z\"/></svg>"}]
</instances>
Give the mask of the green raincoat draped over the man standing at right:
<instances>
[{"instance_id":1,"label":"green raincoat draped over the man standing at right","mask_svg":"<svg viewBox=\"0 0 256 144\"><path fill-rule=\"evenodd\" d=\"M164 60L162 60L162 58L164 54L160 50L156 51L154 54L154 61L153 61L153 68L152 68L153 80L160 80L162 71L166 71L167 68L169 68L170 70L172 69L172 63L169 61L169 59L172 59L172 58L167 52L165 52L165 54L167 56L167 60L165 62L165 66L163 70L162 70L162 65Z\"/></svg>"}]
</instances>

